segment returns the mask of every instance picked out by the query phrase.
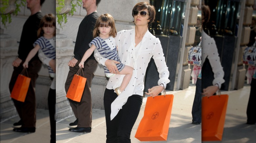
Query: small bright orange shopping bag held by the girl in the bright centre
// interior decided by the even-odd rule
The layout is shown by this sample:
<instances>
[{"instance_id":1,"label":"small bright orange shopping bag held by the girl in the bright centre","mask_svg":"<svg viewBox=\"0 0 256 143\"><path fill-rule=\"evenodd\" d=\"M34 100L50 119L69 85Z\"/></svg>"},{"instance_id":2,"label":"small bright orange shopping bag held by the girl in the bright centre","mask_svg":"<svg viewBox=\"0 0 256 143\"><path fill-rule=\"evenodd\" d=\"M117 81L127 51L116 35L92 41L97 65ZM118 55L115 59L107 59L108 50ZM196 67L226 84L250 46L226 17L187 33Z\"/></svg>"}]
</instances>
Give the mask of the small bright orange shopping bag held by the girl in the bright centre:
<instances>
[{"instance_id":1,"label":"small bright orange shopping bag held by the girl in the bright centre","mask_svg":"<svg viewBox=\"0 0 256 143\"><path fill-rule=\"evenodd\" d=\"M81 72L83 73L83 70L82 68L79 68L79 70L77 71L77 73L74 75L72 79L72 82L69 86L69 90L66 95L67 98L77 102L81 101L82 94L84 91L84 86L86 83L86 78L84 77L84 73L83 73L83 76L80 76Z\"/></svg>"}]
</instances>

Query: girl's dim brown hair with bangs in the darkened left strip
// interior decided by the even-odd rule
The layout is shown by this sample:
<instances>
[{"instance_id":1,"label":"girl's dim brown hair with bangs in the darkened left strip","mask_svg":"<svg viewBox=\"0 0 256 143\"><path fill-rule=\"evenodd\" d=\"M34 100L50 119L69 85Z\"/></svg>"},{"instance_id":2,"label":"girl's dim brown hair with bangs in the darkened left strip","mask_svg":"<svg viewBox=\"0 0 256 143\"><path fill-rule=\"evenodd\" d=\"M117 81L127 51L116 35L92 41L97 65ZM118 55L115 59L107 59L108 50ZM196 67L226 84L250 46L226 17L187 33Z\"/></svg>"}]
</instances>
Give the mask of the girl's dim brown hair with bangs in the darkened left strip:
<instances>
[{"instance_id":1,"label":"girl's dim brown hair with bangs in the darkened left strip","mask_svg":"<svg viewBox=\"0 0 256 143\"><path fill-rule=\"evenodd\" d=\"M37 30L37 37L41 37L41 36L44 36L44 30L43 30L43 27L48 27L48 26L54 26L56 27L56 20L55 20L55 15L53 15L52 13L50 14L46 14L40 24L39 24L39 28ZM56 28L55 28L55 31L56 31ZM54 32L53 36L56 35L56 32Z\"/></svg>"}]
</instances>

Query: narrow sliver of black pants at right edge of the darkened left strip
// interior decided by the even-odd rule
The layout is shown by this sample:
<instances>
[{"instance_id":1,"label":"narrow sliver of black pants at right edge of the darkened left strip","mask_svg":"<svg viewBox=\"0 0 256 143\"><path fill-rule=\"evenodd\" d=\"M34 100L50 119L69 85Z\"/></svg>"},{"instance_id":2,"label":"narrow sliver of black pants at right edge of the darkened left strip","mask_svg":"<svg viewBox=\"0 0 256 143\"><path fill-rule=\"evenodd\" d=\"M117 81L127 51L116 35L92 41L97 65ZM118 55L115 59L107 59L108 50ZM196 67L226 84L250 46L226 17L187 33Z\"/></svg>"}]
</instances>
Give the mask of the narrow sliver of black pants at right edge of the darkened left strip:
<instances>
[{"instance_id":1,"label":"narrow sliver of black pants at right edge of the darkened left strip","mask_svg":"<svg viewBox=\"0 0 256 143\"><path fill-rule=\"evenodd\" d=\"M50 88L48 94L48 108L51 125L51 143L56 142L56 119L55 119L56 89Z\"/></svg>"}]
</instances>

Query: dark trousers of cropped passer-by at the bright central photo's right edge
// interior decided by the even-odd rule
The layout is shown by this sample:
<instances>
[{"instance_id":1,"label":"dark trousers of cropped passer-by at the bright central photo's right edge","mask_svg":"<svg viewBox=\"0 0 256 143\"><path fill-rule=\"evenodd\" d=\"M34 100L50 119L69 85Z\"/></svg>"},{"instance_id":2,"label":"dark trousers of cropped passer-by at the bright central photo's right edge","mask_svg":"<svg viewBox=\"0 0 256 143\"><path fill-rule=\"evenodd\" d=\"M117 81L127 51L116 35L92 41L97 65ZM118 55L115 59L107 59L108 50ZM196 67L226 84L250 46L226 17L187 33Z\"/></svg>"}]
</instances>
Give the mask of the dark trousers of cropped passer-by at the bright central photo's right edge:
<instances>
[{"instance_id":1,"label":"dark trousers of cropped passer-by at the bright central photo's right edge","mask_svg":"<svg viewBox=\"0 0 256 143\"><path fill-rule=\"evenodd\" d=\"M192 121L198 121L201 123L202 117L202 79L197 79L196 93L192 106Z\"/></svg>"}]
</instances>

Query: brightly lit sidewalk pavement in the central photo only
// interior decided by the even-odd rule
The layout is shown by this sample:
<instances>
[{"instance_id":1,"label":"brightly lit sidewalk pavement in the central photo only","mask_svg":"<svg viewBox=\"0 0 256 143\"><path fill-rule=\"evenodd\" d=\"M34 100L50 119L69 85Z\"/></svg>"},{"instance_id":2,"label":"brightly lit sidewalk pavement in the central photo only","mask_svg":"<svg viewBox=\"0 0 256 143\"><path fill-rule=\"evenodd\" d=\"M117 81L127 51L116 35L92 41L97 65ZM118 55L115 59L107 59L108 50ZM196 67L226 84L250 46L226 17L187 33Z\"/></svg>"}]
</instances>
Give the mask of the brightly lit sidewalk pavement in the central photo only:
<instances>
[{"instance_id":1,"label":"brightly lit sidewalk pavement in the central photo only","mask_svg":"<svg viewBox=\"0 0 256 143\"><path fill-rule=\"evenodd\" d=\"M167 92L173 94L172 115L169 125L168 140L155 141L154 143L172 142L172 143L201 143L201 124L193 125L191 110L195 95L195 86L190 86L187 89L179 91ZM140 143L135 138L139 122L143 117L144 108L147 98L143 98L143 103L139 113L139 117L131 133L131 142ZM56 124L56 143L104 143L106 142L106 122L103 110L93 110L93 122L91 133L74 133L68 131L70 122L75 121L75 117L70 117L59 121ZM147 143L147 142L145 142ZM148 142L150 143L150 142Z\"/></svg>"}]
</instances>

